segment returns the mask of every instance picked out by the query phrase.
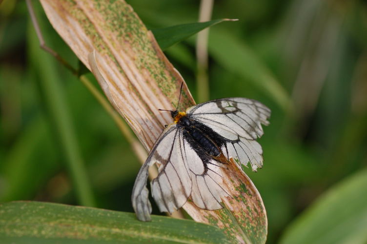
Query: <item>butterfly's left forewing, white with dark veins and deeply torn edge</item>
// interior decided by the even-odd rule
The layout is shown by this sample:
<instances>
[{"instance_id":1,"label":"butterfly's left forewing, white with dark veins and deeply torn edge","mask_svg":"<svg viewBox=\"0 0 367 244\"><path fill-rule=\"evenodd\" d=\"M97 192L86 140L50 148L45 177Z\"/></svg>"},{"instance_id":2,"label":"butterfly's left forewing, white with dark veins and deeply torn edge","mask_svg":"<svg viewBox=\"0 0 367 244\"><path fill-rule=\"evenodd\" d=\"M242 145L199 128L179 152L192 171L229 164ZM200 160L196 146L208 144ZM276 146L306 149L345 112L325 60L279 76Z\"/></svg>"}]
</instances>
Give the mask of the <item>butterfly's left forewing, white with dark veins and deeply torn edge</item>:
<instances>
[{"instance_id":1,"label":"butterfly's left forewing, white with dark veins and deeply torn edge","mask_svg":"<svg viewBox=\"0 0 367 244\"><path fill-rule=\"evenodd\" d=\"M148 168L153 163L159 163L159 175L153 182L162 185L162 194L157 193L157 186L153 184L152 194L162 211L170 211L174 207L181 207L191 192L191 179L186 169L186 162L180 160L180 127L177 124L169 125L153 146L147 160L140 169L135 180L131 196L133 208L141 221L150 221L152 212L148 200L146 182ZM164 203L169 200L169 203ZM176 202L174 202L176 201ZM175 205L172 205L172 204ZM164 208L167 204L167 208ZM172 212L172 211L170 211Z\"/></svg>"}]
</instances>

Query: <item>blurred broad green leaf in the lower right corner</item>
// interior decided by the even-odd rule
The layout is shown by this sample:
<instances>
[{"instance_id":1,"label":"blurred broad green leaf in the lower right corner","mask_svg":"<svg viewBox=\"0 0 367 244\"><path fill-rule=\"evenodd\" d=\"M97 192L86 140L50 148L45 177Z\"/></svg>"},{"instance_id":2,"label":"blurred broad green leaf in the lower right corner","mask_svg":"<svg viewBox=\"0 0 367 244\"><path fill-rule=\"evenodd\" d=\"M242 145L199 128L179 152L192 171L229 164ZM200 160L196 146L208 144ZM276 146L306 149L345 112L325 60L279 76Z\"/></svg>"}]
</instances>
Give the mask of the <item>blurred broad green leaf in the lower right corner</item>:
<instances>
[{"instance_id":1,"label":"blurred broad green leaf in the lower right corner","mask_svg":"<svg viewBox=\"0 0 367 244\"><path fill-rule=\"evenodd\" d=\"M332 187L287 229L281 244L366 244L367 170Z\"/></svg>"}]
</instances>

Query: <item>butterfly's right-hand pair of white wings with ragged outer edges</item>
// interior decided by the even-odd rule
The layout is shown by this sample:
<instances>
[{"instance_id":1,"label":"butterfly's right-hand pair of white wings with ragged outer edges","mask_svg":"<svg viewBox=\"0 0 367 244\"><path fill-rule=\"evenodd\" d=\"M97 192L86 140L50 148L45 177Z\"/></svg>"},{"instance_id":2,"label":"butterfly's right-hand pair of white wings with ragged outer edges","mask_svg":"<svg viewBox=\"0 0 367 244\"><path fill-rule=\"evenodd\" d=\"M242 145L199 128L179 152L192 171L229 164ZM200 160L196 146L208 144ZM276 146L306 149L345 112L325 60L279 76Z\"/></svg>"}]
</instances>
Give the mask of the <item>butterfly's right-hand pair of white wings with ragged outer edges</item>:
<instances>
[{"instance_id":1,"label":"butterfly's right-hand pair of white wings with ragged outer edges","mask_svg":"<svg viewBox=\"0 0 367 244\"><path fill-rule=\"evenodd\" d=\"M270 109L261 102L246 98L224 98L204 102L186 110L187 116L210 127L224 138L221 145L226 158L252 170L263 166L263 149L255 140L264 134L261 124L268 125Z\"/></svg>"}]
</instances>

